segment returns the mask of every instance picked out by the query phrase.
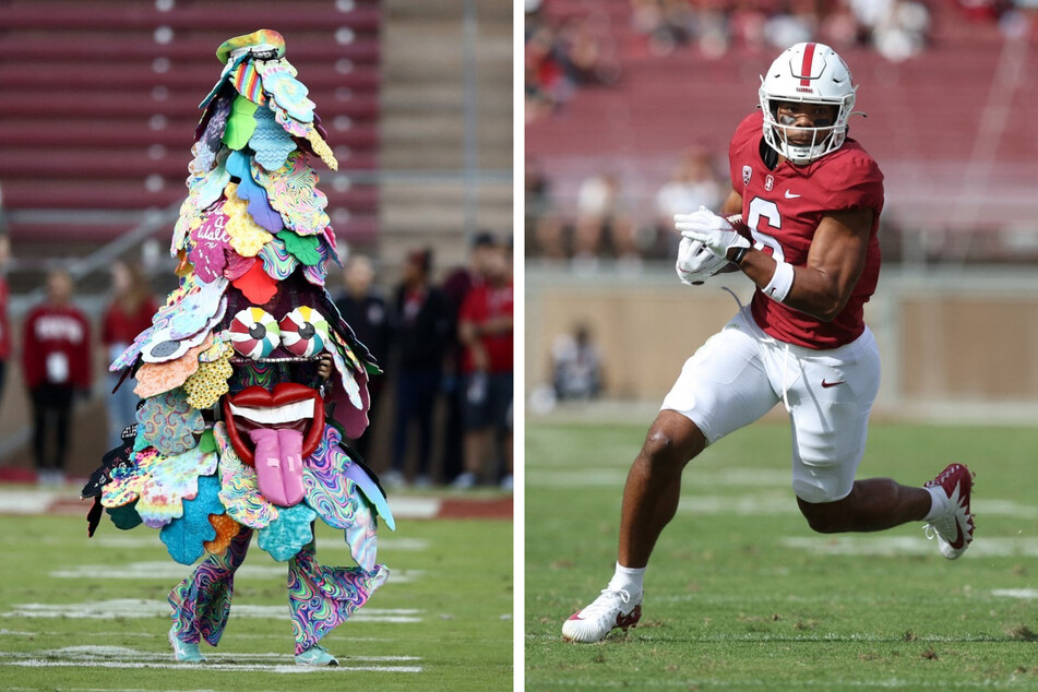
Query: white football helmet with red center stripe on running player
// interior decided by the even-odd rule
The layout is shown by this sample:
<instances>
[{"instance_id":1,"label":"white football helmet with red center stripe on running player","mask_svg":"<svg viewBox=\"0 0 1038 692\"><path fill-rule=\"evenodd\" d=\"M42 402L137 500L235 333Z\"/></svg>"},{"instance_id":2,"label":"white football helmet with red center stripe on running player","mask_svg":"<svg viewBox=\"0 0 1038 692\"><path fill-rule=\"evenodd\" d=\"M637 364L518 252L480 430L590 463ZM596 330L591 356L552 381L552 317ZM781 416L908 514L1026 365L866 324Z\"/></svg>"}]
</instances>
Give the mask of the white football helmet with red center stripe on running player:
<instances>
[{"instance_id":1,"label":"white football helmet with red center stripe on running player","mask_svg":"<svg viewBox=\"0 0 1038 692\"><path fill-rule=\"evenodd\" d=\"M857 88L850 82L847 63L832 48L824 44L797 44L778 56L767 74L761 76L764 141L798 165L835 152L847 139L847 120L855 107ZM777 102L784 100L837 106L836 119L831 127L810 128L810 144L790 143L775 116Z\"/></svg>"}]
</instances>

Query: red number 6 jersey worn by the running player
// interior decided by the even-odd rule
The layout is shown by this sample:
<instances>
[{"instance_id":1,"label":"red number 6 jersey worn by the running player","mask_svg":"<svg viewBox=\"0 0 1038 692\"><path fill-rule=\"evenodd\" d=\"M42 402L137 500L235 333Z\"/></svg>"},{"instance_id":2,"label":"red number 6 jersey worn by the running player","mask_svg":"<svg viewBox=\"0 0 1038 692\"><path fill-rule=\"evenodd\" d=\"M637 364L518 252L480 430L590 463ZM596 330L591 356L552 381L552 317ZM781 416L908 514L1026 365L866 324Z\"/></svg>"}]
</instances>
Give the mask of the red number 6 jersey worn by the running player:
<instances>
[{"instance_id":1,"label":"red number 6 jersey worn by the running player","mask_svg":"<svg viewBox=\"0 0 1038 692\"><path fill-rule=\"evenodd\" d=\"M728 148L731 186L742 193L742 218L753 231L757 249L794 266L804 266L814 231L830 212L871 208L872 232L864 270L833 321L823 322L776 302L760 288L750 305L753 319L764 332L789 344L816 349L843 346L864 331L863 306L875 291L880 275L876 229L883 210L883 174L851 139L806 166L786 160L769 170L761 157L763 124L760 111L748 116Z\"/></svg>"}]
</instances>

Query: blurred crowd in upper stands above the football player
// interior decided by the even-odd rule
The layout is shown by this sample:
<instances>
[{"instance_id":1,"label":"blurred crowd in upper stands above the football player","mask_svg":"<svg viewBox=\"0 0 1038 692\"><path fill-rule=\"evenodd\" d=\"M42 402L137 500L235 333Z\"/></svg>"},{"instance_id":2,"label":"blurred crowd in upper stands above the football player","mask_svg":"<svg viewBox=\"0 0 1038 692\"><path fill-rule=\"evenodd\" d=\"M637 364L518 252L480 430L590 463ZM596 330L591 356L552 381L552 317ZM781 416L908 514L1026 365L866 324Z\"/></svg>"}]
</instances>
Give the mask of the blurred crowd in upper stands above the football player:
<instances>
[{"instance_id":1,"label":"blurred crowd in upper stands above the football player","mask_svg":"<svg viewBox=\"0 0 1038 692\"><path fill-rule=\"evenodd\" d=\"M931 41L933 0L526 0L526 121L562 106L582 87L615 83L621 53L640 58L696 50L716 60L732 50L769 55L820 40L902 61ZM623 12L610 12L630 2ZM957 0L967 17L995 22L1006 35L1026 31L1036 0ZM618 16L627 26L617 26ZM1031 25L1034 22L1030 23Z\"/></svg>"}]
</instances>

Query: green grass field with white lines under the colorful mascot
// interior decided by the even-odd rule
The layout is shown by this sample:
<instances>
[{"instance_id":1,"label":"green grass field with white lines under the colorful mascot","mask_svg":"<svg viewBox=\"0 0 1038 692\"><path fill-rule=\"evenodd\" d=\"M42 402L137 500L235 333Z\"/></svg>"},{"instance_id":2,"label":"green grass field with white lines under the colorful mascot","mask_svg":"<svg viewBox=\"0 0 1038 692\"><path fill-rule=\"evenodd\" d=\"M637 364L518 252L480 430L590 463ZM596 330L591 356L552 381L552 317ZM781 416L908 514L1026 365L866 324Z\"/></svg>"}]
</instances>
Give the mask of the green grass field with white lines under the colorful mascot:
<instances>
[{"instance_id":1,"label":"green grass field with white lines under the colorful mascot","mask_svg":"<svg viewBox=\"0 0 1038 692\"><path fill-rule=\"evenodd\" d=\"M84 513L85 513L84 505ZM398 521L380 534L392 576L324 644L339 668L295 666L285 564L255 540L220 646L174 664L165 597L188 568L157 532L106 518L9 517L0 534L0 690L509 690L512 522ZM320 525L318 558L351 564Z\"/></svg>"}]
</instances>

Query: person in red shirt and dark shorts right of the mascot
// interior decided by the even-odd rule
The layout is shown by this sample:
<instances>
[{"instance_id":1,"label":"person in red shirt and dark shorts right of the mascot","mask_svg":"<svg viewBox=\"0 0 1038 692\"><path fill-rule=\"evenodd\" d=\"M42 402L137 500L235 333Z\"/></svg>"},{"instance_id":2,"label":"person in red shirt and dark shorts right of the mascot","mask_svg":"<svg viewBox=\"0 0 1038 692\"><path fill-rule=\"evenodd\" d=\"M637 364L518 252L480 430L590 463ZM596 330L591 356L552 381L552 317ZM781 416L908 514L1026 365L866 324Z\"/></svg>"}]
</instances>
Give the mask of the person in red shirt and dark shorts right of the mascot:
<instances>
[{"instance_id":1,"label":"person in red shirt and dark shorts right of the mascot","mask_svg":"<svg viewBox=\"0 0 1038 692\"><path fill-rule=\"evenodd\" d=\"M487 258L486 282L465 297L458 313L458 341L464 346L465 472L455 488L470 488L497 438L505 473L502 487L512 482L512 281L502 248Z\"/></svg>"}]
</instances>

